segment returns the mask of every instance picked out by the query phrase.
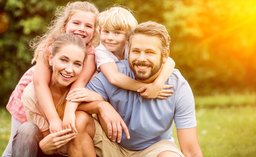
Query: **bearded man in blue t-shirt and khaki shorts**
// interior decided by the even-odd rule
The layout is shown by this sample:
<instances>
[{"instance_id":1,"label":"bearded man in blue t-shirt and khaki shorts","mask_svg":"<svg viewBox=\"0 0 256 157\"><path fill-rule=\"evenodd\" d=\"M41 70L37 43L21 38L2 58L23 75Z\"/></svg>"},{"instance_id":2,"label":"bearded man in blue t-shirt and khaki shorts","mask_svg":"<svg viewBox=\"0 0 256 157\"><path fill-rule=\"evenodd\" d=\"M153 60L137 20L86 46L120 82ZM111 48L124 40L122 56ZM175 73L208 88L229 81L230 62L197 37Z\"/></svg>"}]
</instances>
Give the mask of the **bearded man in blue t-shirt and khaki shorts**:
<instances>
[{"instance_id":1,"label":"bearded man in blue t-shirt and khaki shorts","mask_svg":"<svg viewBox=\"0 0 256 157\"><path fill-rule=\"evenodd\" d=\"M166 28L145 22L127 37L131 44L129 61L117 62L119 71L141 82L154 82L169 56ZM77 108L89 114L76 113L78 134L68 143L69 156L203 156L188 82L175 69L165 84L173 85L173 96L146 99L110 84L102 73L98 74L87 89L98 92L105 101L82 103ZM92 113L98 114L100 124L91 118ZM181 151L171 137L173 120Z\"/></svg>"}]
</instances>

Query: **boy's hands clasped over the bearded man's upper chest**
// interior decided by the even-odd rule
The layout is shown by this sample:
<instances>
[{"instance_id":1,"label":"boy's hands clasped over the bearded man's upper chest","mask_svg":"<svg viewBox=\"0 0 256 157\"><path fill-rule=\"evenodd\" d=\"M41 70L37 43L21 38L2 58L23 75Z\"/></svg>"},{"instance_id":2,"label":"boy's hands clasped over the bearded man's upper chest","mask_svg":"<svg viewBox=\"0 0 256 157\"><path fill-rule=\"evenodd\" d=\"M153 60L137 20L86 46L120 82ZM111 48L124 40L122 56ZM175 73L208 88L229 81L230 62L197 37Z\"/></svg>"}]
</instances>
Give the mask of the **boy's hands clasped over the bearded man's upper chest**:
<instances>
[{"instance_id":1,"label":"boy's hands clasped over the bearded man's upper chest","mask_svg":"<svg viewBox=\"0 0 256 157\"><path fill-rule=\"evenodd\" d=\"M142 86L141 88L139 88L138 92L140 93L140 96L147 99L167 99L167 97L171 96L174 93L173 90L165 90L167 88L173 88L173 86L164 84L163 86L158 86L153 82L151 84L146 84L145 86Z\"/></svg>"}]
</instances>

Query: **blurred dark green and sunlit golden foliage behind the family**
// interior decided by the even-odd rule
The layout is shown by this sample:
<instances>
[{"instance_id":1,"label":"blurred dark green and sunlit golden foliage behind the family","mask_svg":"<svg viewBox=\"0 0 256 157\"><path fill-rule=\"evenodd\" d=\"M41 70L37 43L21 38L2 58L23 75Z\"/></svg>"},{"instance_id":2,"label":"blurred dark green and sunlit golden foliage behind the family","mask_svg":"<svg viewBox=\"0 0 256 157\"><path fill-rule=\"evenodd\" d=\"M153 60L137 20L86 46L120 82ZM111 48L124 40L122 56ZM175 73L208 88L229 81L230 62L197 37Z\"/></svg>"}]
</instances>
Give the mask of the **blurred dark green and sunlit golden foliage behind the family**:
<instances>
[{"instance_id":1,"label":"blurred dark green and sunlit golden foliage behind the family","mask_svg":"<svg viewBox=\"0 0 256 157\"><path fill-rule=\"evenodd\" d=\"M256 90L256 1L91 2L100 11L114 4L125 5L139 23L152 20L165 25L171 36L170 56L194 94ZM1 105L32 66L29 41L44 33L56 7L66 3L68 0L0 0L0 29L9 26L0 33Z\"/></svg>"}]
</instances>

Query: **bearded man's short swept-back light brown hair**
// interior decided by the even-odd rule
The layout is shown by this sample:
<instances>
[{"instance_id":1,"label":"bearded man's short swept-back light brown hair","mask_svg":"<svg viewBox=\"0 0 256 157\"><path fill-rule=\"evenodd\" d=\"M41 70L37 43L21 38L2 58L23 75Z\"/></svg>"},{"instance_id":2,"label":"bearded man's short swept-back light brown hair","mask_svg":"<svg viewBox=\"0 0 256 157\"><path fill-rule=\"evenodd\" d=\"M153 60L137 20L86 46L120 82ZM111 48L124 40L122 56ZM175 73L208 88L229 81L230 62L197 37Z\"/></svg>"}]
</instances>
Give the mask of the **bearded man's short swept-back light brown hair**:
<instances>
[{"instance_id":1,"label":"bearded man's short swept-back light brown hair","mask_svg":"<svg viewBox=\"0 0 256 157\"><path fill-rule=\"evenodd\" d=\"M139 24L139 26L131 29L127 33L127 41L129 41L131 47L131 39L133 35L142 34L148 36L158 37L161 41L160 50L163 56L163 53L169 49L169 44L171 42L171 37L168 34L168 31L165 26L158 24L156 22L148 21Z\"/></svg>"}]
</instances>

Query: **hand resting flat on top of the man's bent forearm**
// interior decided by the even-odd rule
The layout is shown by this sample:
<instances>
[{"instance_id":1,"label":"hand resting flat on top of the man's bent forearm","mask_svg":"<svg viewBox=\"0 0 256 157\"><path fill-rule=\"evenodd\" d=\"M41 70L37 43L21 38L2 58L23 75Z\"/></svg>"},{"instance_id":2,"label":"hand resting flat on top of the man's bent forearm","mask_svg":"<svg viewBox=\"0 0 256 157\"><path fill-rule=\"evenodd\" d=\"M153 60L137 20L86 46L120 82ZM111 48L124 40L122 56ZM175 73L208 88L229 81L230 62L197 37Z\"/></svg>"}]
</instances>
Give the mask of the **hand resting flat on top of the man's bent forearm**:
<instances>
[{"instance_id":1,"label":"hand resting flat on top of the man's bent forearm","mask_svg":"<svg viewBox=\"0 0 256 157\"><path fill-rule=\"evenodd\" d=\"M66 97L68 101L72 102L91 102L96 100L104 100L103 97L98 94L97 92L87 90L86 88L75 88L74 90L71 90L68 93L68 96Z\"/></svg>"}]
</instances>

